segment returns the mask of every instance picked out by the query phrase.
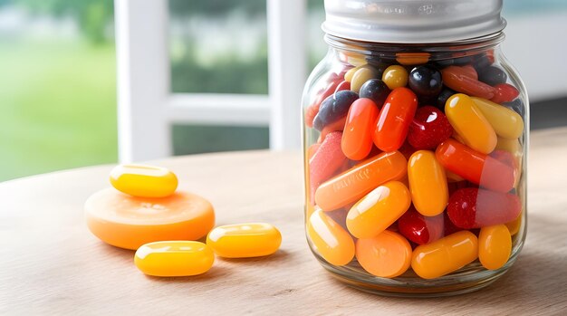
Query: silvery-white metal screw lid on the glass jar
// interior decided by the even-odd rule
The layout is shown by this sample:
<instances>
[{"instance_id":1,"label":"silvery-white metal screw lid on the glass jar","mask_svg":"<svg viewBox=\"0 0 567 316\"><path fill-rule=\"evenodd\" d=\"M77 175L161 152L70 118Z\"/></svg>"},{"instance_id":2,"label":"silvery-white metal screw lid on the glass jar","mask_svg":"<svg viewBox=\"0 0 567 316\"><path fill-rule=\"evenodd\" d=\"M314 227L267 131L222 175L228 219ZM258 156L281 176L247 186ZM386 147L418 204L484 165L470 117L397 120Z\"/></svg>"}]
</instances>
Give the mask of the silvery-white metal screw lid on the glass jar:
<instances>
[{"instance_id":1,"label":"silvery-white metal screw lid on the glass jar","mask_svg":"<svg viewBox=\"0 0 567 316\"><path fill-rule=\"evenodd\" d=\"M325 0L326 34L377 43L448 43L495 34L502 0Z\"/></svg>"}]
</instances>

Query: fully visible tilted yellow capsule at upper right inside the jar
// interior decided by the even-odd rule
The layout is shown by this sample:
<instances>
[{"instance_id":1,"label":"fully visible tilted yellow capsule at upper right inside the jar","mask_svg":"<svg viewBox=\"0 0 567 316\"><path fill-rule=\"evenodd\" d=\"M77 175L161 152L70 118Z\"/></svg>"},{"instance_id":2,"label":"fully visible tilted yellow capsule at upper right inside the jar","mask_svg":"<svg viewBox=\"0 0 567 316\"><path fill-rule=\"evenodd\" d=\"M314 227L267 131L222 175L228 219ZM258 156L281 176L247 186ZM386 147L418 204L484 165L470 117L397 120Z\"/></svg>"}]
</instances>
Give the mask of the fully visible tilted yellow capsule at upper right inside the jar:
<instances>
[{"instance_id":1,"label":"fully visible tilted yellow capsule at upper right inside the jar","mask_svg":"<svg viewBox=\"0 0 567 316\"><path fill-rule=\"evenodd\" d=\"M465 145L483 154L496 147L496 133L475 102L463 93L456 93L445 103L445 114Z\"/></svg>"}]
</instances>

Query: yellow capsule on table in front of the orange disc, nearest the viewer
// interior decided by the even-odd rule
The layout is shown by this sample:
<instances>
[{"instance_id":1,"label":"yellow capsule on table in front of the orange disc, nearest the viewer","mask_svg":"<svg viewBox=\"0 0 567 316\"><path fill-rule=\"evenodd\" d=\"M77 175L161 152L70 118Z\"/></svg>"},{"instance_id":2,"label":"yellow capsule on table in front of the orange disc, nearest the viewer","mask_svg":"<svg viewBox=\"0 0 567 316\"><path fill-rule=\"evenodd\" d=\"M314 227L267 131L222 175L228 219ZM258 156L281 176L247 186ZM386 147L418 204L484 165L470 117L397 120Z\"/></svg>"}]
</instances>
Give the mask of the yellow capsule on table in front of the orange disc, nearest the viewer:
<instances>
[{"instance_id":1,"label":"yellow capsule on table in front of the orange disc, nearest the viewer","mask_svg":"<svg viewBox=\"0 0 567 316\"><path fill-rule=\"evenodd\" d=\"M207 244L190 241L165 241L144 244L134 255L142 273L153 276L187 276L206 273L215 262Z\"/></svg>"}]
</instances>

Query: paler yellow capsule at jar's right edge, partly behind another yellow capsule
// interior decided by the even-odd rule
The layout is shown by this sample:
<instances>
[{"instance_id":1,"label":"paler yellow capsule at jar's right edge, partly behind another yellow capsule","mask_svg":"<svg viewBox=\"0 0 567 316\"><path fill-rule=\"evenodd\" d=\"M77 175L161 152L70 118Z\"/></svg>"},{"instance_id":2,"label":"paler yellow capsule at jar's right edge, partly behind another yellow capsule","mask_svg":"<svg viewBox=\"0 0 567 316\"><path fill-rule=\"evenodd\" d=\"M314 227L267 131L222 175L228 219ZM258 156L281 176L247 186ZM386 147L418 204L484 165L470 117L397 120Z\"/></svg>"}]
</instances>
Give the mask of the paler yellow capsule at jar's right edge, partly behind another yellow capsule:
<instances>
[{"instance_id":1,"label":"paler yellow capsule at jar's right edge, partly behind another yellow capsule","mask_svg":"<svg viewBox=\"0 0 567 316\"><path fill-rule=\"evenodd\" d=\"M524 132L524 120L520 114L493 101L471 97L476 107L483 112L486 120L498 136L505 139L518 139Z\"/></svg>"}]
</instances>

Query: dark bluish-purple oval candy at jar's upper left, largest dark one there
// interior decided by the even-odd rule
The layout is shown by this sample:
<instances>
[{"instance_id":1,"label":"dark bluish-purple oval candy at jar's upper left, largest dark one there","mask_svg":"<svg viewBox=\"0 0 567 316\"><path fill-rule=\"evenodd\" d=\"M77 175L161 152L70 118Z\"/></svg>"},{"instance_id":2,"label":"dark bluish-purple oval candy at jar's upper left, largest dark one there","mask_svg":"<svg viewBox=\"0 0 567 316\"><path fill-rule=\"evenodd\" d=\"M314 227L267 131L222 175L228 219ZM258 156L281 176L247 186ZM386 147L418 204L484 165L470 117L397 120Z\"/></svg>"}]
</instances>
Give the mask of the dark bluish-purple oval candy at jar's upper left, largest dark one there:
<instances>
[{"instance_id":1,"label":"dark bluish-purple oval candy at jar's upper left, largest dark one there","mask_svg":"<svg viewBox=\"0 0 567 316\"><path fill-rule=\"evenodd\" d=\"M322 130L325 126L347 116L352 102L359 99L356 92L350 90L337 91L322 101L319 113L313 119L313 128Z\"/></svg>"}]
</instances>

